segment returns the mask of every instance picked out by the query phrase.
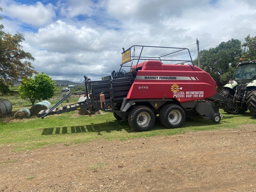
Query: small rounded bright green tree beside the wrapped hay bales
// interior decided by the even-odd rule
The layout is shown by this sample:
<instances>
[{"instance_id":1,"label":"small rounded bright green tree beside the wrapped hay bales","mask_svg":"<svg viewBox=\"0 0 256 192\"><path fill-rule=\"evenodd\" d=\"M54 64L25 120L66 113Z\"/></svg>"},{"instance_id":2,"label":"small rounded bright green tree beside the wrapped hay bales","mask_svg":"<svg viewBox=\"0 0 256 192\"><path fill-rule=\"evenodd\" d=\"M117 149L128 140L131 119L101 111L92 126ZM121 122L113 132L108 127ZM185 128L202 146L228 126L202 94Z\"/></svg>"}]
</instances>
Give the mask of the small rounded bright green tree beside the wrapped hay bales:
<instances>
[{"instance_id":1,"label":"small rounded bright green tree beside the wrapped hay bales","mask_svg":"<svg viewBox=\"0 0 256 192\"><path fill-rule=\"evenodd\" d=\"M48 75L37 74L34 78L22 79L19 86L21 99L29 100L34 105L36 100L42 101L54 95L55 84Z\"/></svg>"}]
</instances>

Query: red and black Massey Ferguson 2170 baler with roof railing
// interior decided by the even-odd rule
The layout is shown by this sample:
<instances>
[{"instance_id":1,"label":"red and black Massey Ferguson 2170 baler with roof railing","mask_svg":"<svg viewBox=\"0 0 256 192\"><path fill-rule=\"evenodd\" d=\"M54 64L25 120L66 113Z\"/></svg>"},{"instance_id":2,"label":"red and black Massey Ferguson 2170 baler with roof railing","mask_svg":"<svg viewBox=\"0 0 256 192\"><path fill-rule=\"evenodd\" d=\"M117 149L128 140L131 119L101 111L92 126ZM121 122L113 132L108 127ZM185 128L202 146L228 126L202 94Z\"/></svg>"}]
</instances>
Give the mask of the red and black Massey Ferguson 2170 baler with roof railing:
<instances>
[{"instance_id":1,"label":"red and black Massey Ferguson 2170 baler with roof railing","mask_svg":"<svg viewBox=\"0 0 256 192\"><path fill-rule=\"evenodd\" d=\"M135 48L140 49L139 55L135 54ZM143 49L148 49L145 56L142 56ZM168 52L149 57L147 54L154 49ZM134 45L127 50L123 48L123 51L121 67L111 76L102 77L100 81L91 81L84 76L85 101L56 108L67 95L51 109L42 110L37 117L80 109L91 115L103 110L112 112L117 120L128 120L136 131L150 130L158 114L166 128L181 127L186 116L220 122L219 107L215 104L228 108L229 101L216 93L212 77L193 65L188 49ZM181 51L186 51L190 59L177 60ZM128 72L125 71L127 68Z\"/></svg>"}]
</instances>

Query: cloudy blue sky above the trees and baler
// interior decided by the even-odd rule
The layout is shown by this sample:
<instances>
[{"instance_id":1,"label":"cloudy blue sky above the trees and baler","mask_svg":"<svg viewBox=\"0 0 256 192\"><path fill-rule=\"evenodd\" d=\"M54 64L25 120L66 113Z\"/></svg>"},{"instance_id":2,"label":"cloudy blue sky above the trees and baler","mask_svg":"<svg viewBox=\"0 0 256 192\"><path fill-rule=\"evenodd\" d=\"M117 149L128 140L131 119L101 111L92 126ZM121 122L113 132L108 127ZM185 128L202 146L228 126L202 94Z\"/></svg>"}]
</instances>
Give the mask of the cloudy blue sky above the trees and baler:
<instances>
[{"instance_id":1,"label":"cloudy blue sky above the trees and baler","mask_svg":"<svg viewBox=\"0 0 256 192\"><path fill-rule=\"evenodd\" d=\"M84 75L92 80L110 75L121 62L122 47L194 44L188 48L195 59L196 38L201 50L231 38L244 42L256 32L254 0L0 2L4 30L23 33L35 70L75 82Z\"/></svg>"}]
</instances>

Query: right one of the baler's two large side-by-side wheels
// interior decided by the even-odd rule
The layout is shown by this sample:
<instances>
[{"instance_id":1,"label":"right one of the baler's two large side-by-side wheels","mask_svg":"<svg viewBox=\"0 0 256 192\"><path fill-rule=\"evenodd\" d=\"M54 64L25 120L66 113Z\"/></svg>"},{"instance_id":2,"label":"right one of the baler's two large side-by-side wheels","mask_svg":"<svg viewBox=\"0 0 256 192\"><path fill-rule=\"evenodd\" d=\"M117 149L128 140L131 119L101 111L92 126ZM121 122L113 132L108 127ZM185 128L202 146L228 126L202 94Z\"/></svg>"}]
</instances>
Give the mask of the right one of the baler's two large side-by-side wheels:
<instances>
[{"instance_id":1,"label":"right one of the baler's two large side-by-side wheels","mask_svg":"<svg viewBox=\"0 0 256 192\"><path fill-rule=\"evenodd\" d=\"M165 105L159 113L160 123L166 128L173 129L181 127L185 122L185 118L184 110L175 104Z\"/></svg>"}]
</instances>

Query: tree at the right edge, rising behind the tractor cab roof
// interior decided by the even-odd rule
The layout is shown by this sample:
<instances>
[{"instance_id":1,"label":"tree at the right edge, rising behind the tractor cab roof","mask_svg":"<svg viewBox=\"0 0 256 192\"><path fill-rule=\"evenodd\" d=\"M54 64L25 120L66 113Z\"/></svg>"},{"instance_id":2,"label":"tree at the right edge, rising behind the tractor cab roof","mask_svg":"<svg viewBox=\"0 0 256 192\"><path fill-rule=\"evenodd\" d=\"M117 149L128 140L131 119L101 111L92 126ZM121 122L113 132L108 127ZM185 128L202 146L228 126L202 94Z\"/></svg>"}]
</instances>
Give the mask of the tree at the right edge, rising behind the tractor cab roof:
<instances>
[{"instance_id":1,"label":"tree at the right edge, rising behind the tractor cab roof","mask_svg":"<svg viewBox=\"0 0 256 192\"><path fill-rule=\"evenodd\" d=\"M243 60L256 60L256 36L251 37L248 35L247 37L244 38L246 41L242 46L247 47L244 49L244 54L242 56Z\"/></svg>"}]
</instances>

